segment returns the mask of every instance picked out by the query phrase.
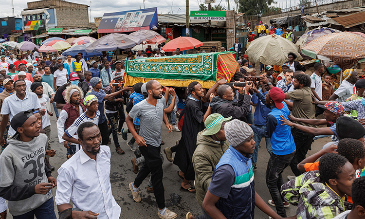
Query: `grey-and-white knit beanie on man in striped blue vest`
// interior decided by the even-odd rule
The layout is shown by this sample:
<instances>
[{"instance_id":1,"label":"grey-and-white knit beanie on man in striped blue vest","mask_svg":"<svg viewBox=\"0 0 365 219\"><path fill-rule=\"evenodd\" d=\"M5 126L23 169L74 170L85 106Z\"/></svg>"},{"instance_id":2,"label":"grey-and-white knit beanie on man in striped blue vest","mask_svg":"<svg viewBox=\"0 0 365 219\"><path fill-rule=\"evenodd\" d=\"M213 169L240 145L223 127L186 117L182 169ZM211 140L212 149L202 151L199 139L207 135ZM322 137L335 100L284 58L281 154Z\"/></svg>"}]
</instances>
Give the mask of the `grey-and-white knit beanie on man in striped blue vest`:
<instances>
[{"instance_id":1,"label":"grey-and-white knit beanie on man in striped blue vest","mask_svg":"<svg viewBox=\"0 0 365 219\"><path fill-rule=\"evenodd\" d=\"M224 125L224 133L230 146L237 147L247 141L254 134L254 131L247 123L234 119L226 122Z\"/></svg>"}]
</instances>

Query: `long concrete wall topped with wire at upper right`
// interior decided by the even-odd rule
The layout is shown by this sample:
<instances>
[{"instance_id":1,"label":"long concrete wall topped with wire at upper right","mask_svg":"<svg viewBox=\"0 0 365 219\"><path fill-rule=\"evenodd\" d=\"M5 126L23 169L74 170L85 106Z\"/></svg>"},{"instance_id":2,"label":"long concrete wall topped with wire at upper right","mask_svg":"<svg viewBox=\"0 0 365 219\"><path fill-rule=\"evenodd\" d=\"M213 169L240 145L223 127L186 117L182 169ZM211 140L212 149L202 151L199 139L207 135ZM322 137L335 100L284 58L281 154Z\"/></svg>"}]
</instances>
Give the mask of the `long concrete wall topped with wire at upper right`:
<instances>
[{"instance_id":1,"label":"long concrete wall topped with wire at upper right","mask_svg":"<svg viewBox=\"0 0 365 219\"><path fill-rule=\"evenodd\" d=\"M334 11L334 10L341 10L341 9L355 8L355 7L362 7L362 6L365 6L365 1L363 2L363 0L344 0L344 1L337 1L334 3L330 3L330 4L319 5L318 11L319 12ZM289 14L300 14L300 13L301 13L301 11L299 8L298 10L295 10L295 11L285 12L285 13L271 15L271 16L265 16L265 17L261 17L260 19L262 20L263 23L269 24L270 19L272 19L272 18L281 18L281 17L289 16ZM309 14L317 13L317 7L305 8L304 14L306 14L306 13L309 13Z\"/></svg>"}]
</instances>

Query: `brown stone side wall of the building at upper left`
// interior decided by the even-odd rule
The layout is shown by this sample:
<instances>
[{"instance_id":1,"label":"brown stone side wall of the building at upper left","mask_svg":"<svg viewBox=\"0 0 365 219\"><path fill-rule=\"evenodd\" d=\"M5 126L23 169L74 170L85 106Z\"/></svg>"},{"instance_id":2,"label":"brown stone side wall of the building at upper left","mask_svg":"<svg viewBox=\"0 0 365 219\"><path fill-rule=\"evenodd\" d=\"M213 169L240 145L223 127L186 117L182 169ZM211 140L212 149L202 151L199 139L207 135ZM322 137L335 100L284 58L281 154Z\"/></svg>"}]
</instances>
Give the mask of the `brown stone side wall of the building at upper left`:
<instances>
[{"instance_id":1,"label":"brown stone side wall of the building at upper left","mask_svg":"<svg viewBox=\"0 0 365 219\"><path fill-rule=\"evenodd\" d=\"M79 8L56 8L57 14L57 27L70 28L70 27L88 27L89 24L89 12L87 7Z\"/></svg>"}]
</instances>

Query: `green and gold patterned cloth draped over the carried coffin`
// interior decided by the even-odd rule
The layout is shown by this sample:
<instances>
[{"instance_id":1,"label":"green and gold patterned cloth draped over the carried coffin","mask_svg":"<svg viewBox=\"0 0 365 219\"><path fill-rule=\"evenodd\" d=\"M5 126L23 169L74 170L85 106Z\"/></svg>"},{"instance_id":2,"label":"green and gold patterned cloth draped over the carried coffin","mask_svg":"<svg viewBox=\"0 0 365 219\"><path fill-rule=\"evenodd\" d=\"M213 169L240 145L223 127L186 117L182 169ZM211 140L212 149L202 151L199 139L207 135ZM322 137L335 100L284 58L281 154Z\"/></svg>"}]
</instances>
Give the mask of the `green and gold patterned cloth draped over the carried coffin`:
<instances>
[{"instance_id":1,"label":"green and gold patterned cloth draped over the carried coffin","mask_svg":"<svg viewBox=\"0 0 365 219\"><path fill-rule=\"evenodd\" d=\"M198 81L210 88L221 78L230 81L236 72L239 64L235 52L141 58L127 61L124 86L155 79L163 86L187 87Z\"/></svg>"}]
</instances>

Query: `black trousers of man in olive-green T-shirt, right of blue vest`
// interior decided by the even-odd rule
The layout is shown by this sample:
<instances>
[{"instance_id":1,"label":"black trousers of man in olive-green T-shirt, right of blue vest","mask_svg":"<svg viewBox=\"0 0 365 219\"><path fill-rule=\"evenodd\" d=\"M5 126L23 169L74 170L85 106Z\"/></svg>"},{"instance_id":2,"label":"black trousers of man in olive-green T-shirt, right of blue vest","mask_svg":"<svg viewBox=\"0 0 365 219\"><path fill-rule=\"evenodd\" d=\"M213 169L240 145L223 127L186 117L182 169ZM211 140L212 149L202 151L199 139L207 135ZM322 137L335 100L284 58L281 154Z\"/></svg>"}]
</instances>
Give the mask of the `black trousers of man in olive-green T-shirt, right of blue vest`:
<instances>
[{"instance_id":1,"label":"black trousers of man in olive-green T-shirt, right of blue vest","mask_svg":"<svg viewBox=\"0 0 365 219\"><path fill-rule=\"evenodd\" d=\"M290 168L295 176L302 174L296 167L301 161L306 158L307 152L313 142L314 135L303 132L297 128L292 128L292 136L296 147L296 153L290 163Z\"/></svg>"}]
</instances>

